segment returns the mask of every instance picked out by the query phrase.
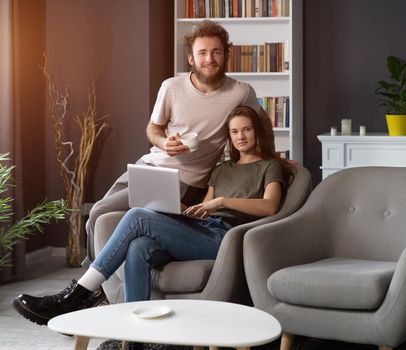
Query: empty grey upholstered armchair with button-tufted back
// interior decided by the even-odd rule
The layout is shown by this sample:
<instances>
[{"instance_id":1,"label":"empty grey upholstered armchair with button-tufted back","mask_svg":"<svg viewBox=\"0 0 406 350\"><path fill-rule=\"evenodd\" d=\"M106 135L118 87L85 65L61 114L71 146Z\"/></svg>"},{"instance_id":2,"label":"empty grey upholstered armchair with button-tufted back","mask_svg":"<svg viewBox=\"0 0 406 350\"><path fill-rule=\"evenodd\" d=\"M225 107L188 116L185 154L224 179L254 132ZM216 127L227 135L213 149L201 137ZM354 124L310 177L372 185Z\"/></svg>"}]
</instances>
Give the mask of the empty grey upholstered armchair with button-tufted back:
<instances>
[{"instance_id":1,"label":"empty grey upholstered armchair with button-tufted back","mask_svg":"<svg viewBox=\"0 0 406 350\"><path fill-rule=\"evenodd\" d=\"M392 349L406 339L406 168L350 168L293 215L248 231L254 305L294 335Z\"/></svg>"}]
</instances>

